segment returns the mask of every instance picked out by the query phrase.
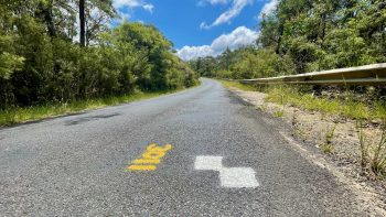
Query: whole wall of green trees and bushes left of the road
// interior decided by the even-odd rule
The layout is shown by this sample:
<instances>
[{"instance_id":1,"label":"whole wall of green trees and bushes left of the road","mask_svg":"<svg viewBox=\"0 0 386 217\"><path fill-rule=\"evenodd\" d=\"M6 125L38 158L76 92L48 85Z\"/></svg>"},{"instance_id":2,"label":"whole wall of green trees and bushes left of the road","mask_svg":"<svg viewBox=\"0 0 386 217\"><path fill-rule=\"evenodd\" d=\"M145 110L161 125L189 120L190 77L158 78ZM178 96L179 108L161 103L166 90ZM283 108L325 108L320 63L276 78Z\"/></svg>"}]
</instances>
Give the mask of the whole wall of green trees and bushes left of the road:
<instances>
[{"instance_id":1,"label":"whole wall of green trees and bushes left of the road","mask_svg":"<svg viewBox=\"0 0 386 217\"><path fill-rule=\"evenodd\" d=\"M0 109L68 102L195 84L154 26L109 28L112 1L85 1L85 45L77 0L0 0Z\"/></svg>"}]
</instances>

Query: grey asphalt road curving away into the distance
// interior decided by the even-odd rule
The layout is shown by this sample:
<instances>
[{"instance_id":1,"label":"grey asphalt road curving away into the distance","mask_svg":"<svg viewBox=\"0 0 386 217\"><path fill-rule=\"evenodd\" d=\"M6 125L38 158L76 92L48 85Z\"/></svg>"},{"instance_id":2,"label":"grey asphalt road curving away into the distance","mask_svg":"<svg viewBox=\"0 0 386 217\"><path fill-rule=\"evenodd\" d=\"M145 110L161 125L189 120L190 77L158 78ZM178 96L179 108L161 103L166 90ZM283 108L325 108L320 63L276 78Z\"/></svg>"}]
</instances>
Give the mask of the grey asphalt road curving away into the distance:
<instances>
[{"instance_id":1,"label":"grey asphalt road curving away into the distance","mask_svg":"<svg viewBox=\"0 0 386 217\"><path fill-rule=\"evenodd\" d=\"M143 154L156 170L127 170ZM352 198L208 79L0 130L0 216L366 216Z\"/></svg>"}]
</instances>

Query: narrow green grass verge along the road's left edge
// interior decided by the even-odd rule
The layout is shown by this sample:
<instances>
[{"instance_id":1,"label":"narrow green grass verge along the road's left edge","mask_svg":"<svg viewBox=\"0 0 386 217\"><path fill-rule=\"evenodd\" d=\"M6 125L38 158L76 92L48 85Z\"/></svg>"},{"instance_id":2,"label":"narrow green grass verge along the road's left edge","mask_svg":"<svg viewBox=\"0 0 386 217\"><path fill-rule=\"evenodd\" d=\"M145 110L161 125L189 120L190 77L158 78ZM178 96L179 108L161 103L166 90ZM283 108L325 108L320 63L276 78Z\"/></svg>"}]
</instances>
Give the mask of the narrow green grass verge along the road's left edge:
<instances>
[{"instance_id":1,"label":"narrow green grass verge along the road's left edge","mask_svg":"<svg viewBox=\"0 0 386 217\"><path fill-rule=\"evenodd\" d=\"M61 115L76 113L85 110L104 108L107 106L116 106L120 104L138 101L142 99L154 98L165 94L172 94L178 90L153 91L153 93L136 93L119 97L107 97L98 99L87 99L74 101L69 104L42 105L28 108L11 108L0 110L0 126L12 126L28 121L41 120L45 118L56 117Z\"/></svg>"}]
</instances>

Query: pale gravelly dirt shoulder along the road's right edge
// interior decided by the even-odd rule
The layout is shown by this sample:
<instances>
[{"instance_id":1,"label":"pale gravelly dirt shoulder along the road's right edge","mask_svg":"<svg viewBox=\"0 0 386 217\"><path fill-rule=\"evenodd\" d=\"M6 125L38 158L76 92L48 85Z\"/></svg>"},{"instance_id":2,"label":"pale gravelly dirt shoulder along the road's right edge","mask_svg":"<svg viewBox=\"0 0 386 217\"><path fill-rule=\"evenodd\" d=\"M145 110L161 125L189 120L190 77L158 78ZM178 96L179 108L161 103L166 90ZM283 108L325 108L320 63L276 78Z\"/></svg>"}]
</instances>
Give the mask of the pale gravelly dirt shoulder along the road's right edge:
<instances>
[{"instance_id":1,"label":"pale gravelly dirt shoulder along the road's right edge","mask_svg":"<svg viewBox=\"0 0 386 217\"><path fill-rule=\"evenodd\" d=\"M380 213L386 214L386 182L376 177L369 170L362 169L358 128L355 120L308 111L291 105L267 102L265 100L267 95L264 93L229 89L256 109L286 121L291 126L291 133L289 137L283 137L290 143L302 141L299 143L301 145L298 147L298 151L308 154L304 158L315 164L324 164L322 167L328 167L340 181L350 185L360 197L376 205ZM326 137L332 130L333 135L328 142ZM367 124L363 131L371 141L376 141L380 137L379 127L376 124ZM326 143L330 144L328 148ZM317 147L318 156L304 151L302 145ZM315 159L319 160L315 161Z\"/></svg>"}]
</instances>

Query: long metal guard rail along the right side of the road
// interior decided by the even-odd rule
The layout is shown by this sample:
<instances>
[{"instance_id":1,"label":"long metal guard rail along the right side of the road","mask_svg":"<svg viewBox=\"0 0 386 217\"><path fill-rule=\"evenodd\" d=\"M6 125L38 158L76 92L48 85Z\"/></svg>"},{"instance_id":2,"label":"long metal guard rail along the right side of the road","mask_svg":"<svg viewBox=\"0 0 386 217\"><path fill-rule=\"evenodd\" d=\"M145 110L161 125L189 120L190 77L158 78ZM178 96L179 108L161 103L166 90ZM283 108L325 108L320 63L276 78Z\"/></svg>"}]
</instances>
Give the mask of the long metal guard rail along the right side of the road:
<instances>
[{"instance_id":1,"label":"long metal guard rail along the right side of the road","mask_svg":"<svg viewBox=\"0 0 386 217\"><path fill-rule=\"evenodd\" d=\"M386 84L386 63L270 78L236 79L236 82L262 85L383 85Z\"/></svg>"}]
</instances>

